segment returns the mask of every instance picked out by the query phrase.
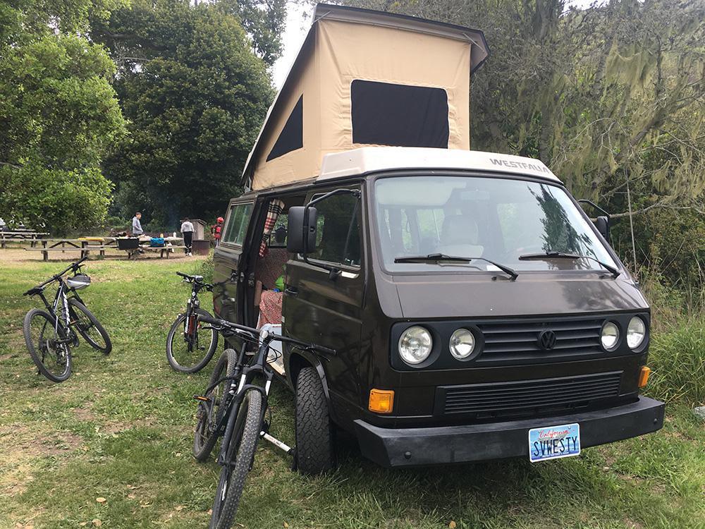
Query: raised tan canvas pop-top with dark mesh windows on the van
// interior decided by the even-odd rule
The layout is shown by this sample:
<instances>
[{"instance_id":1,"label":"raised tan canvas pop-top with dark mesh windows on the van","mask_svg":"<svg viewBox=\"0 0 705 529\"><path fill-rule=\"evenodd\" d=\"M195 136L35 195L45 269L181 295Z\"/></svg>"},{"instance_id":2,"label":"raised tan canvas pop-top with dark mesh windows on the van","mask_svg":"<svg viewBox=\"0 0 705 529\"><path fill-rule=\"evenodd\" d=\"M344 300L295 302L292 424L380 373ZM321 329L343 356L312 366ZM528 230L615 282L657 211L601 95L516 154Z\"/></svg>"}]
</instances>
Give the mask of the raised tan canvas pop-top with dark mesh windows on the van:
<instances>
[{"instance_id":1,"label":"raised tan canvas pop-top with dark mesh windows on the van","mask_svg":"<svg viewBox=\"0 0 705 529\"><path fill-rule=\"evenodd\" d=\"M481 31L319 4L243 172L255 190L319 175L325 154L369 145L470 148Z\"/></svg>"}]
</instances>

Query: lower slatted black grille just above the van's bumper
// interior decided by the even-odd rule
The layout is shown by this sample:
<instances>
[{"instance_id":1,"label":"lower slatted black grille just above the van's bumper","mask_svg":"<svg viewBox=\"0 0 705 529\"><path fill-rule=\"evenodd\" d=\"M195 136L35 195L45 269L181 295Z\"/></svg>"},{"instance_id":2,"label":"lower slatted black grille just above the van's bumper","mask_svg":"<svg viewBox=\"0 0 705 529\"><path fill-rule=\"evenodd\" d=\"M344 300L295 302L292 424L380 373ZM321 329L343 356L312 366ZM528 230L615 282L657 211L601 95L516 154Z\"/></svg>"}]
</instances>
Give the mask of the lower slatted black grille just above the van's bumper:
<instances>
[{"instance_id":1,"label":"lower slatted black grille just above the van's bumper","mask_svg":"<svg viewBox=\"0 0 705 529\"><path fill-rule=\"evenodd\" d=\"M476 418L539 415L572 411L619 395L621 371L520 382L441 386L436 415L474 414Z\"/></svg>"}]
</instances>

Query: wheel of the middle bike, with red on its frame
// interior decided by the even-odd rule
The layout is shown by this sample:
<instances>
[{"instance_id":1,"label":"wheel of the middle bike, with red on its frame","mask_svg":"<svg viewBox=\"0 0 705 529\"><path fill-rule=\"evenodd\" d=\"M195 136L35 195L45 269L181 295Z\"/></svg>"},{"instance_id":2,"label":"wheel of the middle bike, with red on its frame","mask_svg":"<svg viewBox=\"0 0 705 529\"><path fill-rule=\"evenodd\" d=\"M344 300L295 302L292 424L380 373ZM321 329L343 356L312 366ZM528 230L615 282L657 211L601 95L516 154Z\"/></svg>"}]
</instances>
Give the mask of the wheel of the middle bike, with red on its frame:
<instances>
[{"instance_id":1,"label":"wheel of the middle bike, with red on its frame","mask_svg":"<svg viewBox=\"0 0 705 529\"><path fill-rule=\"evenodd\" d=\"M200 308L191 312L189 321L180 314L166 336L166 360L178 372L199 372L211 361L218 346L216 329L204 329L196 315L212 317Z\"/></svg>"}]
</instances>

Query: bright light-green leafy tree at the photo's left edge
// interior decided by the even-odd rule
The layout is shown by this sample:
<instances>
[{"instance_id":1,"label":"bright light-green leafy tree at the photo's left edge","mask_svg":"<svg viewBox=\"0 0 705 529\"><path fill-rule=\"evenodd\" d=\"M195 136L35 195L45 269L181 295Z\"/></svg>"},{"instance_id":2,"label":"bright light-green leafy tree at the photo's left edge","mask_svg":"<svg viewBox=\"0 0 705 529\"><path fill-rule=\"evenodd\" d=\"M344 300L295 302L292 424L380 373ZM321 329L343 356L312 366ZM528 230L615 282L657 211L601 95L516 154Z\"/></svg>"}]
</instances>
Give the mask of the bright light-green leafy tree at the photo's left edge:
<instances>
[{"instance_id":1,"label":"bright light-green leafy tree at the photo's left edge","mask_svg":"<svg viewBox=\"0 0 705 529\"><path fill-rule=\"evenodd\" d=\"M104 219L99 169L123 132L114 64L81 32L108 4L0 0L0 214L54 233Z\"/></svg>"}]
</instances>

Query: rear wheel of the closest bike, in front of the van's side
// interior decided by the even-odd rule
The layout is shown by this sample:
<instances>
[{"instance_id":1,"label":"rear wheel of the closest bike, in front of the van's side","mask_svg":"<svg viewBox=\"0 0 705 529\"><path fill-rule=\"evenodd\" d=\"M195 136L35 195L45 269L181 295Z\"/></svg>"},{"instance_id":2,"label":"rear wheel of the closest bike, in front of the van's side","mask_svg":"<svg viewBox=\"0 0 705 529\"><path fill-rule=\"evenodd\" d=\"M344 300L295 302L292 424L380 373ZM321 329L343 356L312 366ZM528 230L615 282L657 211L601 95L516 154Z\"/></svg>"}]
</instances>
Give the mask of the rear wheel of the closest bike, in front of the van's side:
<instances>
[{"instance_id":1,"label":"rear wheel of the closest bike, in front of the van's side","mask_svg":"<svg viewBox=\"0 0 705 529\"><path fill-rule=\"evenodd\" d=\"M216 366L208 381L208 387L215 384L223 377L232 377L235 375L235 367L238 364L238 353L234 349L226 349L218 359ZM206 461L211 455L213 447L218 441L218 432L212 431L210 427L218 427L219 417L217 416L221 410L221 404L226 396L226 391L230 388L230 380L221 382L216 386L210 394L205 395L215 399L214 406L207 408L207 403L200 402L198 405L198 421L193 434L193 456L196 461ZM216 417L213 417L216 414Z\"/></svg>"}]
</instances>

